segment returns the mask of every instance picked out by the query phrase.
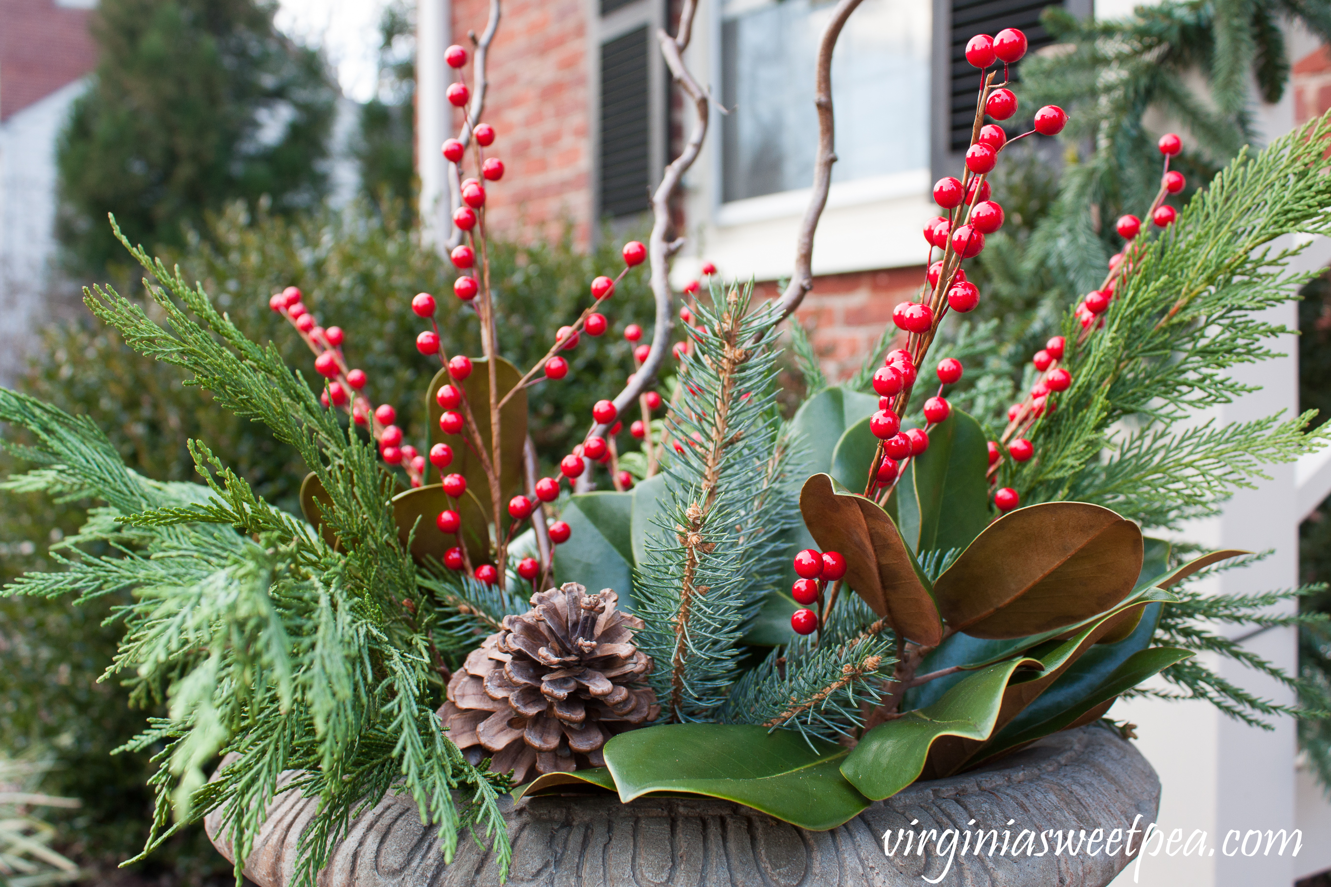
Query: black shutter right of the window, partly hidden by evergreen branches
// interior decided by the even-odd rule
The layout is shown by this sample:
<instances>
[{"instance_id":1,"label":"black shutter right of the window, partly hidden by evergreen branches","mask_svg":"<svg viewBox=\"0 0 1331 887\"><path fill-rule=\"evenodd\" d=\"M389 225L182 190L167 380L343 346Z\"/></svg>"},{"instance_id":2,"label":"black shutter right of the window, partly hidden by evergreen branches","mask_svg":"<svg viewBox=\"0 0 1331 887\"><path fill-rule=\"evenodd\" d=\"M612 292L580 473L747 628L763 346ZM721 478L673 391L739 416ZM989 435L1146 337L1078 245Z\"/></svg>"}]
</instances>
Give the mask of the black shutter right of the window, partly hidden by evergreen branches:
<instances>
[{"instance_id":1,"label":"black shutter right of the window, partly hidden by evergreen branches","mask_svg":"<svg viewBox=\"0 0 1331 887\"><path fill-rule=\"evenodd\" d=\"M970 129L976 121L976 93L980 92L980 70L966 61L966 41L977 33L996 35L1004 28L1020 28L1026 35L1028 53L1054 41L1040 24L1040 13L1046 7L1062 3L1047 0L953 0L952 3L952 89L949 94L948 148L964 152L970 146ZM1002 72L998 72L1002 77ZM1030 117L1021 109L1018 117ZM1013 120L1017 120L1014 117Z\"/></svg>"}]
</instances>

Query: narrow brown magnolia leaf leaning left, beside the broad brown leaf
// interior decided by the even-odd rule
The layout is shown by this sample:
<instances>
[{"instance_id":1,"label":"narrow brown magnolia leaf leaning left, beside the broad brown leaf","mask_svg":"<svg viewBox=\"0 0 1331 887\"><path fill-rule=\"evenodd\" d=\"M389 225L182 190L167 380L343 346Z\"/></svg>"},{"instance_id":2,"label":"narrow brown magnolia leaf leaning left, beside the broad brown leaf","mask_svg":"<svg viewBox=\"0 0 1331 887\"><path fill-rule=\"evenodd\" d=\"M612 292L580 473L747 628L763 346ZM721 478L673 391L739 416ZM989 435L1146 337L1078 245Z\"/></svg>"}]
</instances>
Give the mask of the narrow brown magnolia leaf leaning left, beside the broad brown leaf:
<instances>
[{"instance_id":1,"label":"narrow brown magnolia leaf leaning left, beside the broad brown leaf","mask_svg":"<svg viewBox=\"0 0 1331 887\"><path fill-rule=\"evenodd\" d=\"M813 475L800 491L800 513L819 548L845 557L851 588L898 634L924 646L942 640L920 567L877 503L839 493L828 475Z\"/></svg>"}]
</instances>

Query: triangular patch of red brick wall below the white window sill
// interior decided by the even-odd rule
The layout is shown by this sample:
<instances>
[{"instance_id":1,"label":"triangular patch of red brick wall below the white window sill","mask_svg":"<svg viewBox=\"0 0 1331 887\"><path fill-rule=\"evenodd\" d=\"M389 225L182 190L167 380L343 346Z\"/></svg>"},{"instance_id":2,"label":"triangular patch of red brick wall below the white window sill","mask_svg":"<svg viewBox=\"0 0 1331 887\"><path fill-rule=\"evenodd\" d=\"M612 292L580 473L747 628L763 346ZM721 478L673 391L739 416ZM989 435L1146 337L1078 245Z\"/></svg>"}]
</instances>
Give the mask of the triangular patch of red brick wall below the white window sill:
<instances>
[{"instance_id":1,"label":"triangular patch of red brick wall below the white window sill","mask_svg":"<svg viewBox=\"0 0 1331 887\"><path fill-rule=\"evenodd\" d=\"M884 327L892 326L892 309L913 298L922 281L922 266L813 278L813 291L796 315L829 379L847 379L860 368ZM779 294L776 283L759 283L757 291L768 298Z\"/></svg>"}]
</instances>

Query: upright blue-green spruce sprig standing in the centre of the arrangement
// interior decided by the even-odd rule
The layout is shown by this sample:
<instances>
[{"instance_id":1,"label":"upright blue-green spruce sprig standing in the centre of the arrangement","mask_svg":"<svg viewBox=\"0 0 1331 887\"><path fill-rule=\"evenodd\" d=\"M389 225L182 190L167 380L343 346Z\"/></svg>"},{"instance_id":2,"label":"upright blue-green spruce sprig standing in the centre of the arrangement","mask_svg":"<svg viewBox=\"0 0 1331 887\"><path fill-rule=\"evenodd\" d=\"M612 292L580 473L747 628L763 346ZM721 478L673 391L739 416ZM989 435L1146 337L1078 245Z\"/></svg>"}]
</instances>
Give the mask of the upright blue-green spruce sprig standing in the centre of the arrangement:
<instances>
[{"instance_id":1,"label":"upright blue-green spruce sprig standing in the centre of the arrangement","mask_svg":"<svg viewBox=\"0 0 1331 887\"><path fill-rule=\"evenodd\" d=\"M752 286L699 303L692 354L667 419L676 440L669 504L634 582L646 629L638 646L662 717L707 719L739 677L739 644L764 594L781 581L785 533L797 509L787 487L789 444L776 408L776 350L768 311L751 313Z\"/></svg>"}]
</instances>

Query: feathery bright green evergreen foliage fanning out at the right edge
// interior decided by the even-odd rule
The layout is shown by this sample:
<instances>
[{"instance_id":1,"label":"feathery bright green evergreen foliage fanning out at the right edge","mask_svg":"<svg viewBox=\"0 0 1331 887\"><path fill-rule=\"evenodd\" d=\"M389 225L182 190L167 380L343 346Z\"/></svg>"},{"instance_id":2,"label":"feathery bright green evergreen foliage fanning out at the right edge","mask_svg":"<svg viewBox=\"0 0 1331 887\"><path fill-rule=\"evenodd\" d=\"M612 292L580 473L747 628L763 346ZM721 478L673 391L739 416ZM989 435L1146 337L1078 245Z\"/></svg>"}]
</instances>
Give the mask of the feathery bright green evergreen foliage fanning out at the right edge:
<instances>
[{"instance_id":1,"label":"feathery bright green evergreen foliage fanning out at the right edge","mask_svg":"<svg viewBox=\"0 0 1331 887\"><path fill-rule=\"evenodd\" d=\"M1066 318L1073 386L1028 435L1041 457L1006 461L1002 485L1028 503L1093 501L1147 528L1175 528L1215 513L1234 488L1263 476L1262 464L1323 445L1324 430L1306 434L1308 415L1223 428L1182 423L1254 391L1229 372L1274 356L1270 339L1286 330L1259 313L1311 275L1286 269L1298 247L1271 242L1331 233L1328 138L1323 118L1256 157L1242 154L1135 254L1102 328L1075 344L1081 324Z\"/></svg>"}]
</instances>

